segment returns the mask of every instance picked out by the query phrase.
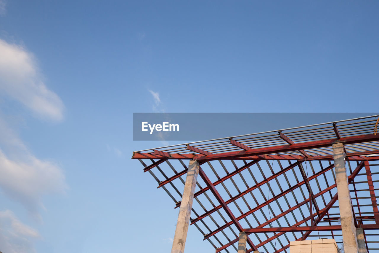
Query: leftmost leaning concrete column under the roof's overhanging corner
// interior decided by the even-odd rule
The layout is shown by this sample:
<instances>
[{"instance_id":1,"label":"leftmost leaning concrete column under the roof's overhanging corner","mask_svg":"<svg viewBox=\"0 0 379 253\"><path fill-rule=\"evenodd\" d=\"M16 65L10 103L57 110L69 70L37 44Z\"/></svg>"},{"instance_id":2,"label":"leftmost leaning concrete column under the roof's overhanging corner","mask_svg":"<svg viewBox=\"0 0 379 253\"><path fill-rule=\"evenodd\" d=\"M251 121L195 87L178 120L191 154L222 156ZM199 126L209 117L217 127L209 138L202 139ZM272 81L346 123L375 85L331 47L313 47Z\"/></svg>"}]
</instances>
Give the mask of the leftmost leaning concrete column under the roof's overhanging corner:
<instances>
[{"instance_id":1,"label":"leftmost leaning concrete column under the roof's overhanging corner","mask_svg":"<svg viewBox=\"0 0 379 253\"><path fill-rule=\"evenodd\" d=\"M178 221L176 223L174 242L172 242L171 253L184 252L184 245L186 243L189 215L191 215L197 174L199 174L199 163L194 160L189 161L182 202L180 204Z\"/></svg>"}]
</instances>

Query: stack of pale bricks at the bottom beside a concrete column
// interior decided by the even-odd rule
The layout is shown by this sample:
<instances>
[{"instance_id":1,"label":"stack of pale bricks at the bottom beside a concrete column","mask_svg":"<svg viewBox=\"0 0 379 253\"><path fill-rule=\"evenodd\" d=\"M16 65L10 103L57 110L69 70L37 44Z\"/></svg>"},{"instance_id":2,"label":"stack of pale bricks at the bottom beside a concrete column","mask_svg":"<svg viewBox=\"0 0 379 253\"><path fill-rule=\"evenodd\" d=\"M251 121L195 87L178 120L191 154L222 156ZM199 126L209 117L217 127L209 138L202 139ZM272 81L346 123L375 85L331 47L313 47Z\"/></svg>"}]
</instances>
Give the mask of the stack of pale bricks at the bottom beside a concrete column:
<instances>
[{"instance_id":1,"label":"stack of pale bricks at the bottom beside a concrete column","mask_svg":"<svg viewBox=\"0 0 379 253\"><path fill-rule=\"evenodd\" d=\"M340 253L334 239L290 242L290 253Z\"/></svg>"}]
</instances>

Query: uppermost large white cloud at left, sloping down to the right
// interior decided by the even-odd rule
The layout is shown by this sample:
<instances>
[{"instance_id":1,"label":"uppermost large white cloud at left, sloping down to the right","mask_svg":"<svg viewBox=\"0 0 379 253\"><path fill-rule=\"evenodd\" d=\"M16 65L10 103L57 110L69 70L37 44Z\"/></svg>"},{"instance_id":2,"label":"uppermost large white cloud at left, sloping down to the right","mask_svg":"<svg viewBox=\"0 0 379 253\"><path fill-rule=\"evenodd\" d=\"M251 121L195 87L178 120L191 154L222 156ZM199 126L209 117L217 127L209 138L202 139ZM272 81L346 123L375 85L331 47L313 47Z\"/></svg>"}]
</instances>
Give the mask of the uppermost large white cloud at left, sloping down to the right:
<instances>
[{"instance_id":1,"label":"uppermost large white cloud at left, sloping down to the right","mask_svg":"<svg viewBox=\"0 0 379 253\"><path fill-rule=\"evenodd\" d=\"M64 105L56 93L47 89L33 54L0 40L0 55L0 91L40 117L62 120Z\"/></svg>"}]
</instances>

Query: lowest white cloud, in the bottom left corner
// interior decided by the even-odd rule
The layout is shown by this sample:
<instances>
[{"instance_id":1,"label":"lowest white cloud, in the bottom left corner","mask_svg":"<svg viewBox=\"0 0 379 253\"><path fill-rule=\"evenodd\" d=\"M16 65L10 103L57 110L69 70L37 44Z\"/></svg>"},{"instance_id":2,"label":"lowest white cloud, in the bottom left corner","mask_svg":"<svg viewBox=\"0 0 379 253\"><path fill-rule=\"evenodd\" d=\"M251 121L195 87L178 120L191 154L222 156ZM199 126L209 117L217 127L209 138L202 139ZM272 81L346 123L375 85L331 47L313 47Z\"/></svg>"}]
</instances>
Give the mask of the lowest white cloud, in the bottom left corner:
<instances>
[{"instance_id":1,"label":"lowest white cloud, in the bottom left corner","mask_svg":"<svg viewBox=\"0 0 379 253\"><path fill-rule=\"evenodd\" d=\"M39 232L19 221L10 210L0 212L0 245L4 253L33 253L30 239L40 238Z\"/></svg>"}]
</instances>

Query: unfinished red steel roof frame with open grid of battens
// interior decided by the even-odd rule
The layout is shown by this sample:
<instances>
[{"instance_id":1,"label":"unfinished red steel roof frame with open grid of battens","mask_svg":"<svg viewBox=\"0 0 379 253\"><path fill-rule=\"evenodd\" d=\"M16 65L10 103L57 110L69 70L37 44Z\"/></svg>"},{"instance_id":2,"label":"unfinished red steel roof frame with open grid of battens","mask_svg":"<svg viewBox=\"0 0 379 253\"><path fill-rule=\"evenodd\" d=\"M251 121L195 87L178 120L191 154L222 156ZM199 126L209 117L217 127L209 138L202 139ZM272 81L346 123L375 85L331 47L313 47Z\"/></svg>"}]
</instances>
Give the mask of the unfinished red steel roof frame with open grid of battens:
<instances>
[{"instance_id":1,"label":"unfinished red steel roof frame with open grid of battens","mask_svg":"<svg viewBox=\"0 0 379 253\"><path fill-rule=\"evenodd\" d=\"M341 142L354 223L368 252L379 251L379 133L377 117L171 145L133 152L180 207L186 160L199 176L190 224L217 252L237 250L245 231L248 249L289 252L294 240L334 238L341 225L332 144Z\"/></svg>"}]
</instances>

